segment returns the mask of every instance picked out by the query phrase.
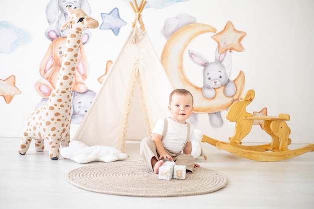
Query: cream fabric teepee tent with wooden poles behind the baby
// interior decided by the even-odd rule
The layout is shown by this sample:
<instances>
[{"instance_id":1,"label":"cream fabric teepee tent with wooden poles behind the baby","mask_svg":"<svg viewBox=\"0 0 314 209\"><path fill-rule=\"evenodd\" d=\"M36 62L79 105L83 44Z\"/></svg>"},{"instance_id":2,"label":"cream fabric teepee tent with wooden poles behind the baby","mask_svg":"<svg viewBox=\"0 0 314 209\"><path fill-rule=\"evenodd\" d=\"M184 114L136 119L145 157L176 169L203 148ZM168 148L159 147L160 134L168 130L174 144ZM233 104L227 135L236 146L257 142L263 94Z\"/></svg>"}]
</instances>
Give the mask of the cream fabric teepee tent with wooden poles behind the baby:
<instances>
[{"instance_id":1,"label":"cream fabric teepee tent with wooden poles behind the baby","mask_svg":"<svg viewBox=\"0 0 314 209\"><path fill-rule=\"evenodd\" d=\"M125 140L149 136L155 123L169 116L173 87L141 22L144 5L135 10L131 4L136 15L131 33L73 140L124 151Z\"/></svg>"}]
</instances>

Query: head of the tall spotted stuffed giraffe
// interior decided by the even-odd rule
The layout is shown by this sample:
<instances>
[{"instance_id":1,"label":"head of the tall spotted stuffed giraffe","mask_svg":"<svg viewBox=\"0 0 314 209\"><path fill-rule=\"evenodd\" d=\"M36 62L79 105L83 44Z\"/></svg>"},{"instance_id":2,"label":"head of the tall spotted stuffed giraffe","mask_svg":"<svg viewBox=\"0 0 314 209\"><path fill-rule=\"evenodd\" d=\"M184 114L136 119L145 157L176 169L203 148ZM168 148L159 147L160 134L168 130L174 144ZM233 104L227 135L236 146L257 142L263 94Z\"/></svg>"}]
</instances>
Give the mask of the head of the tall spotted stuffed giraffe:
<instances>
[{"instance_id":1,"label":"head of the tall spotted stuffed giraffe","mask_svg":"<svg viewBox=\"0 0 314 209\"><path fill-rule=\"evenodd\" d=\"M89 17L82 9L67 7L67 11L69 20L61 26L61 30L70 26L70 29L75 28L75 30L83 32L86 29L94 29L99 26L98 21Z\"/></svg>"}]
</instances>

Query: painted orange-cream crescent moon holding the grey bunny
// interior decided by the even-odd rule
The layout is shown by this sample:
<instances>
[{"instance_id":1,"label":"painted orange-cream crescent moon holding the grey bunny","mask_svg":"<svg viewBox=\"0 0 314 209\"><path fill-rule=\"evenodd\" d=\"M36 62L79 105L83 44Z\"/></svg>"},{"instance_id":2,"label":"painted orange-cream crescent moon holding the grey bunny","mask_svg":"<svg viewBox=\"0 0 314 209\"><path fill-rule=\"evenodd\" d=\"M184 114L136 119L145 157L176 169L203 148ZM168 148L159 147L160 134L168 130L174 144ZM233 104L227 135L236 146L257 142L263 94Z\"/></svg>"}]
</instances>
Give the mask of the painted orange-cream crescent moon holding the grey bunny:
<instances>
[{"instance_id":1,"label":"painted orange-cream crescent moon holding the grey bunny","mask_svg":"<svg viewBox=\"0 0 314 209\"><path fill-rule=\"evenodd\" d=\"M214 113L228 109L234 100L238 100L244 89L244 73L234 80L236 93L233 97L224 94L224 87L216 88L216 96L208 99L203 96L202 88L195 86L186 77L182 63L184 52L189 43L198 35L203 33L215 33L216 29L210 25L194 23L187 25L176 31L165 44L161 61L164 69L175 89L184 88L189 90L194 98L194 109L196 113Z\"/></svg>"}]
</instances>

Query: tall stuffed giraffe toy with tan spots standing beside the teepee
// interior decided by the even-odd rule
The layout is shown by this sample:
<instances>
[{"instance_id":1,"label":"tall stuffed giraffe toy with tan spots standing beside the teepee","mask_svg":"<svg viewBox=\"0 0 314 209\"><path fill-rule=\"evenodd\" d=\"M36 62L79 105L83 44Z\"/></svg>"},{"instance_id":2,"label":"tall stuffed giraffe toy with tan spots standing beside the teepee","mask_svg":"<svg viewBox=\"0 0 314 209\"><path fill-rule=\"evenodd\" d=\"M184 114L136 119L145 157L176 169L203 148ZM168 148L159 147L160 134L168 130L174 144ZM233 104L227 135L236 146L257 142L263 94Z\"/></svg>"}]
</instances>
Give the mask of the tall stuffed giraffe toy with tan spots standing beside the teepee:
<instances>
[{"instance_id":1,"label":"tall stuffed giraffe toy with tan spots standing beside the teepee","mask_svg":"<svg viewBox=\"0 0 314 209\"><path fill-rule=\"evenodd\" d=\"M99 23L87 16L81 9L68 7L67 12L69 21L62 28L70 26L70 30L56 88L47 103L29 115L19 147L19 153L22 155L26 154L32 139L35 140L36 151L44 151L44 140L48 139L50 159L58 160L60 143L62 147L65 147L70 142L71 87L78 62L81 35L86 29L97 28Z\"/></svg>"}]
</instances>

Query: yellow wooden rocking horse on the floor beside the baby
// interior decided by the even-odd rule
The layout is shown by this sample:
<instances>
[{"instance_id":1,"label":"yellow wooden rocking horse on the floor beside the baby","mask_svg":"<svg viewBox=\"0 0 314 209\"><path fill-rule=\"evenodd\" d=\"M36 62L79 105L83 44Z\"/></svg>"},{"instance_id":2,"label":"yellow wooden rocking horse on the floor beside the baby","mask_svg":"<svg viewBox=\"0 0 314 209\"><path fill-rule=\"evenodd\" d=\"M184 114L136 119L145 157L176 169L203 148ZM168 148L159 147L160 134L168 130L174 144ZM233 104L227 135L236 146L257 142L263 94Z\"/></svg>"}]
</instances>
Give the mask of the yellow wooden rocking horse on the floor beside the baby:
<instances>
[{"instance_id":1,"label":"yellow wooden rocking horse on the floor beside the baby","mask_svg":"<svg viewBox=\"0 0 314 209\"><path fill-rule=\"evenodd\" d=\"M228 109L226 118L229 121L236 122L235 130L229 143L213 139L203 135L202 142L207 142L218 149L224 149L232 154L257 161L279 161L293 158L306 152L314 151L314 144L297 149L288 149L291 144L289 134L290 128L285 121L290 120L288 114L280 113L278 116L253 116L246 112L248 106L255 97L254 90L248 90L240 101L234 102ZM241 145L241 140L251 131L253 121L262 120L262 127L265 132L271 136L271 143L262 145Z\"/></svg>"}]
</instances>

